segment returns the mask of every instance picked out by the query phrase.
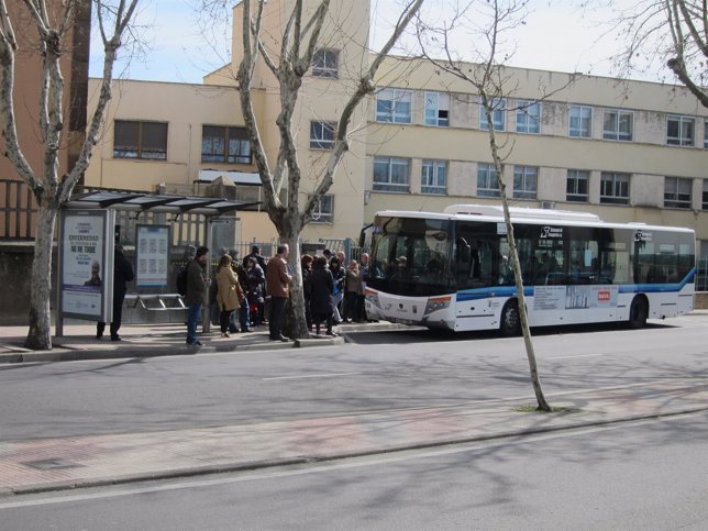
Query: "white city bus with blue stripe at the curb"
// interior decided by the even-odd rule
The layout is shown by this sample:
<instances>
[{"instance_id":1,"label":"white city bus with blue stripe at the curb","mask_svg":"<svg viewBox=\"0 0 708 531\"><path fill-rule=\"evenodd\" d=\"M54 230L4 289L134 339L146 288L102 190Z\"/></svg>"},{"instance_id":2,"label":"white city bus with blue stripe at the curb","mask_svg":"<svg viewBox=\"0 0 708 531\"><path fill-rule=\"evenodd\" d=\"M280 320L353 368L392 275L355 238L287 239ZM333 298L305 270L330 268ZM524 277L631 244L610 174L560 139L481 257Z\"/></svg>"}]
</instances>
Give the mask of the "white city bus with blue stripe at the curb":
<instances>
[{"instance_id":1,"label":"white city bus with blue stripe at the curb","mask_svg":"<svg viewBox=\"0 0 708 531\"><path fill-rule=\"evenodd\" d=\"M586 212L511 208L531 327L626 322L693 310L690 229L609 223ZM370 236L370 319L520 334L501 207L381 211Z\"/></svg>"}]
</instances>

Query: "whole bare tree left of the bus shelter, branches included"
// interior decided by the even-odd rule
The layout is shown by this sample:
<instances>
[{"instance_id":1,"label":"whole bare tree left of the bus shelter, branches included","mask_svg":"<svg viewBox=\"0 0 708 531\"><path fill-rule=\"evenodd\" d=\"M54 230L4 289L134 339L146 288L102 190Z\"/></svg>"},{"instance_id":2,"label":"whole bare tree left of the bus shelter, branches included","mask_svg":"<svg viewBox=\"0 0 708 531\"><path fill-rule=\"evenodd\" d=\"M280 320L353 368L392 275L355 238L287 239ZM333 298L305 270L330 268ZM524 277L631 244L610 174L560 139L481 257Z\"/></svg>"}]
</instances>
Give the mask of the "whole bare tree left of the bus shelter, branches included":
<instances>
[{"instance_id":1,"label":"whole bare tree left of the bus shelter, branches included","mask_svg":"<svg viewBox=\"0 0 708 531\"><path fill-rule=\"evenodd\" d=\"M0 0L0 119L4 140L4 155L10 158L18 174L27 184L37 203L36 237L32 263L30 292L30 329L25 346L33 350L51 350L52 243L56 218L88 167L91 150L96 145L106 108L111 99L113 63L122 40L135 13L140 0ZM66 129L65 75L62 71L63 55L71 46L71 32L77 27L81 10L95 9L104 48L103 79L96 111L89 119L86 139L79 155L66 175L59 176L59 152L69 143ZM31 51L20 49L15 27L34 44ZM88 37L88 36L87 36ZM18 53L30 53L41 65L38 102L38 142L43 148L42 167L32 167L24 152L30 147L20 145L14 100Z\"/></svg>"}]
</instances>

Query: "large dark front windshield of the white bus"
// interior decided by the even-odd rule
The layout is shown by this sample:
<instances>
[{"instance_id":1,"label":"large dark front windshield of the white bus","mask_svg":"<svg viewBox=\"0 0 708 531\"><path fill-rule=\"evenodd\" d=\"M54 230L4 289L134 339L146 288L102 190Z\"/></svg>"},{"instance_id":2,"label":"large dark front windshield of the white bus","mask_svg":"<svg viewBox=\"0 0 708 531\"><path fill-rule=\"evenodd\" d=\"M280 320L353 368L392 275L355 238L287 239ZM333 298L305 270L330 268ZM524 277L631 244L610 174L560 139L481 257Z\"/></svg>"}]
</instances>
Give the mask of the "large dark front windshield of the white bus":
<instances>
[{"instance_id":1,"label":"large dark front windshield of the white bus","mask_svg":"<svg viewBox=\"0 0 708 531\"><path fill-rule=\"evenodd\" d=\"M368 285L406 296L450 292L450 228L447 220L377 217Z\"/></svg>"}]
</instances>

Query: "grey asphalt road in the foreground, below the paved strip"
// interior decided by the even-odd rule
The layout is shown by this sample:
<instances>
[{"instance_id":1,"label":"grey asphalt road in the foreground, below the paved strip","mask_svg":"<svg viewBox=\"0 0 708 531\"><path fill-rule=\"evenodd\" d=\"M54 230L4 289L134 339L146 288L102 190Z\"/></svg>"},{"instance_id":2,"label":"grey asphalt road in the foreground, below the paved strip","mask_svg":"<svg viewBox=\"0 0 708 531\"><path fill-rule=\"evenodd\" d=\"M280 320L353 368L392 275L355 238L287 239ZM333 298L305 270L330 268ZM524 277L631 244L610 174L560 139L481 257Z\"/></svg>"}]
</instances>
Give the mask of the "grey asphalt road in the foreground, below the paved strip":
<instances>
[{"instance_id":1,"label":"grey asphalt road in the foreground, below the paved strip","mask_svg":"<svg viewBox=\"0 0 708 531\"><path fill-rule=\"evenodd\" d=\"M0 499L2 529L708 529L708 413Z\"/></svg>"}]
</instances>

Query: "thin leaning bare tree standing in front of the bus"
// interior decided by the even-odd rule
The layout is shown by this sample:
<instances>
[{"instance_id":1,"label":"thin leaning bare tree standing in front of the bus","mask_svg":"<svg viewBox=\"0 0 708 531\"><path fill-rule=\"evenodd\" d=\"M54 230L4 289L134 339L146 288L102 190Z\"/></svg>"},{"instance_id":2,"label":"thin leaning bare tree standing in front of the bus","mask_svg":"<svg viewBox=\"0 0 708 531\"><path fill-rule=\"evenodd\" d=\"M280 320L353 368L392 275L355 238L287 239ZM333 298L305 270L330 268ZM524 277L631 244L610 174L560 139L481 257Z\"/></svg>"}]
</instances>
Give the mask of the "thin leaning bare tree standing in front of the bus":
<instances>
[{"instance_id":1,"label":"thin leaning bare tree standing in front of the bus","mask_svg":"<svg viewBox=\"0 0 708 531\"><path fill-rule=\"evenodd\" d=\"M511 146L506 143L499 143L494 120L495 114L499 111L507 112L509 110L504 107L505 98L510 96L515 89L512 76L509 75L504 64L512 55L513 49L502 38L506 32L522 23L528 3L529 0L469 1L464 5L455 2L455 8L450 9L453 14L447 21L433 26L419 18L417 32L423 56L440 70L469 84L479 96L482 112L486 117L491 158L499 182L499 195L509 241L509 261L517 288L515 311L502 316L502 319L510 319L513 322L504 323L504 325L510 330L520 328L538 409L540 411L551 411L552 408L546 401L541 386L533 341L529 330L521 265L509 213L504 161L508 157ZM475 63L463 60L455 47L455 42L462 41L456 40L456 34L461 32L466 37L465 43L469 43L469 35L473 35L473 48L465 49L465 52L471 54ZM468 46L468 44L466 45ZM544 98L547 98L551 93L545 93ZM506 152L506 154L502 152Z\"/></svg>"}]
</instances>

